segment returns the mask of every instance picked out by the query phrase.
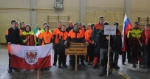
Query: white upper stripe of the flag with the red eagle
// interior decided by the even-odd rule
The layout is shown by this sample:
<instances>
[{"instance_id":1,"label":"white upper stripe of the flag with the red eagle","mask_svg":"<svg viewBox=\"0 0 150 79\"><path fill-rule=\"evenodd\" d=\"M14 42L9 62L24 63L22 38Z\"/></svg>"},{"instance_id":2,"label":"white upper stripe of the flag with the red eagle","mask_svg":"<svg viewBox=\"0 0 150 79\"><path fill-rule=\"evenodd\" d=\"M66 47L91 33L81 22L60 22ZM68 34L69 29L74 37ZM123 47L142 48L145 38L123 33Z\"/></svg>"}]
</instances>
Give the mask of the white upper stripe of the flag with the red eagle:
<instances>
[{"instance_id":1,"label":"white upper stripe of the flag with the red eagle","mask_svg":"<svg viewBox=\"0 0 150 79\"><path fill-rule=\"evenodd\" d=\"M24 58L26 51L38 51L38 58L43 58L47 55L52 55L52 45L52 43L43 46L22 46L12 44L11 54Z\"/></svg>"}]
</instances>

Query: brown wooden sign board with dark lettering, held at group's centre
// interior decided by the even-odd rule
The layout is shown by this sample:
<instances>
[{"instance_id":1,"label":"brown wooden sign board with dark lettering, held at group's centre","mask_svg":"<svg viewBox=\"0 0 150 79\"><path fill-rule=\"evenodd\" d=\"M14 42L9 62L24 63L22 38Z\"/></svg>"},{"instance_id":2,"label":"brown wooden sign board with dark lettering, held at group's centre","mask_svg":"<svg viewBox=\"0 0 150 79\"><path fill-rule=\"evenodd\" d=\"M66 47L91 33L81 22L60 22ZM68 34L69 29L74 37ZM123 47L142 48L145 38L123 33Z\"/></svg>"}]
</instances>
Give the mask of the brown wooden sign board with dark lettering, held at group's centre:
<instances>
[{"instance_id":1,"label":"brown wooden sign board with dark lettering, held at group's centre","mask_svg":"<svg viewBox=\"0 0 150 79\"><path fill-rule=\"evenodd\" d=\"M86 43L70 43L70 47L65 49L66 55L86 55Z\"/></svg>"}]
</instances>

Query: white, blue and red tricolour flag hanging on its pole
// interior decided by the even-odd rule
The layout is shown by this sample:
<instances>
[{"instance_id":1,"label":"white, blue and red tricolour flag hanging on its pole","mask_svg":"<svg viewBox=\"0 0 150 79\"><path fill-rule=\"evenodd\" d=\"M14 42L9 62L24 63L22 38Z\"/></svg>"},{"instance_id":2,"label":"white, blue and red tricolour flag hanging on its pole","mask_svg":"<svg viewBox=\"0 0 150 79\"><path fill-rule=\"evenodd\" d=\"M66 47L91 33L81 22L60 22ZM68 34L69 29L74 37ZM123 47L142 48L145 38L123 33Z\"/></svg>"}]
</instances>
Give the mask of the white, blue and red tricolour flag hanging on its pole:
<instances>
[{"instance_id":1,"label":"white, blue and red tricolour flag hanging on its pole","mask_svg":"<svg viewBox=\"0 0 150 79\"><path fill-rule=\"evenodd\" d=\"M126 51L126 39L128 31L131 29L132 25L125 14L124 21L123 21L123 30L122 30L122 51Z\"/></svg>"}]
</instances>

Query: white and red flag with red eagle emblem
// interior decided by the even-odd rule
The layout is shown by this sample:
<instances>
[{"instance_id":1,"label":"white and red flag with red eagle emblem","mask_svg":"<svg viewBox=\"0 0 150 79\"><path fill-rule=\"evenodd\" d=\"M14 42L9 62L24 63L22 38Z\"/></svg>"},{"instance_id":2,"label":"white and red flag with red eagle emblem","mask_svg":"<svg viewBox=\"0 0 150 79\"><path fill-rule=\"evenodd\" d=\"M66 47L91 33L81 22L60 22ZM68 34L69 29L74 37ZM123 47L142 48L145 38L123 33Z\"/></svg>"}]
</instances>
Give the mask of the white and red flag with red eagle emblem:
<instances>
[{"instance_id":1,"label":"white and red flag with red eagle emblem","mask_svg":"<svg viewBox=\"0 0 150 79\"><path fill-rule=\"evenodd\" d=\"M11 66L19 69L41 69L52 66L52 44L43 46L11 45Z\"/></svg>"}]
</instances>

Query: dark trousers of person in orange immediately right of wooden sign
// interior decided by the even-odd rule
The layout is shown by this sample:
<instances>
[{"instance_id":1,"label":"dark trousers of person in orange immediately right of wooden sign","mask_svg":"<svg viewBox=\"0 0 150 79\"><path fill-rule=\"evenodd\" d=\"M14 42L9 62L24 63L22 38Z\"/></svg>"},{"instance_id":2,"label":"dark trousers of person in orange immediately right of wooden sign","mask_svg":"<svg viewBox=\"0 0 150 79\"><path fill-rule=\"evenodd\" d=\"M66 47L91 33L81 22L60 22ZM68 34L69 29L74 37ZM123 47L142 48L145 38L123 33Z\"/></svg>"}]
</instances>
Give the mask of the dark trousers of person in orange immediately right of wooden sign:
<instances>
[{"instance_id":1,"label":"dark trousers of person in orange immediately right of wooden sign","mask_svg":"<svg viewBox=\"0 0 150 79\"><path fill-rule=\"evenodd\" d=\"M87 56L88 56L88 62L92 62L94 58L94 47L92 44L89 44L87 47Z\"/></svg>"}]
</instances>

